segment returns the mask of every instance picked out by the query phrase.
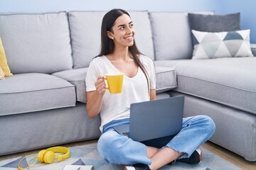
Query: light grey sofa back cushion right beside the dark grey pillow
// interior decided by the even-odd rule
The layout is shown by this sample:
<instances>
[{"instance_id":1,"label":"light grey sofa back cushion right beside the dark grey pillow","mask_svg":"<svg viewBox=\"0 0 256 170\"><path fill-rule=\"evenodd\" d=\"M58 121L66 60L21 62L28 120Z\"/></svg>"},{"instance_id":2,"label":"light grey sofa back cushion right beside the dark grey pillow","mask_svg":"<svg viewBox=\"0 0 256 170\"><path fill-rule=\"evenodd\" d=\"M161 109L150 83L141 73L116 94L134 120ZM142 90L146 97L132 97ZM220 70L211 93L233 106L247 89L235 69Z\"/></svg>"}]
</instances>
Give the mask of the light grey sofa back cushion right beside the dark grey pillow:
<instances>
[{"instance_id":1,"label":"light grey sofa back cushion right beside the dark grey pillow","mask_svg":"<svg viewBox=\"0 0 256 170\"><path fill-rule=\"evenodd\" d=\"M201 12L213 14L213 11ZM191 28L187 12L150 12L155 60L191 59Z\"/></svg>"}]
</instances>

